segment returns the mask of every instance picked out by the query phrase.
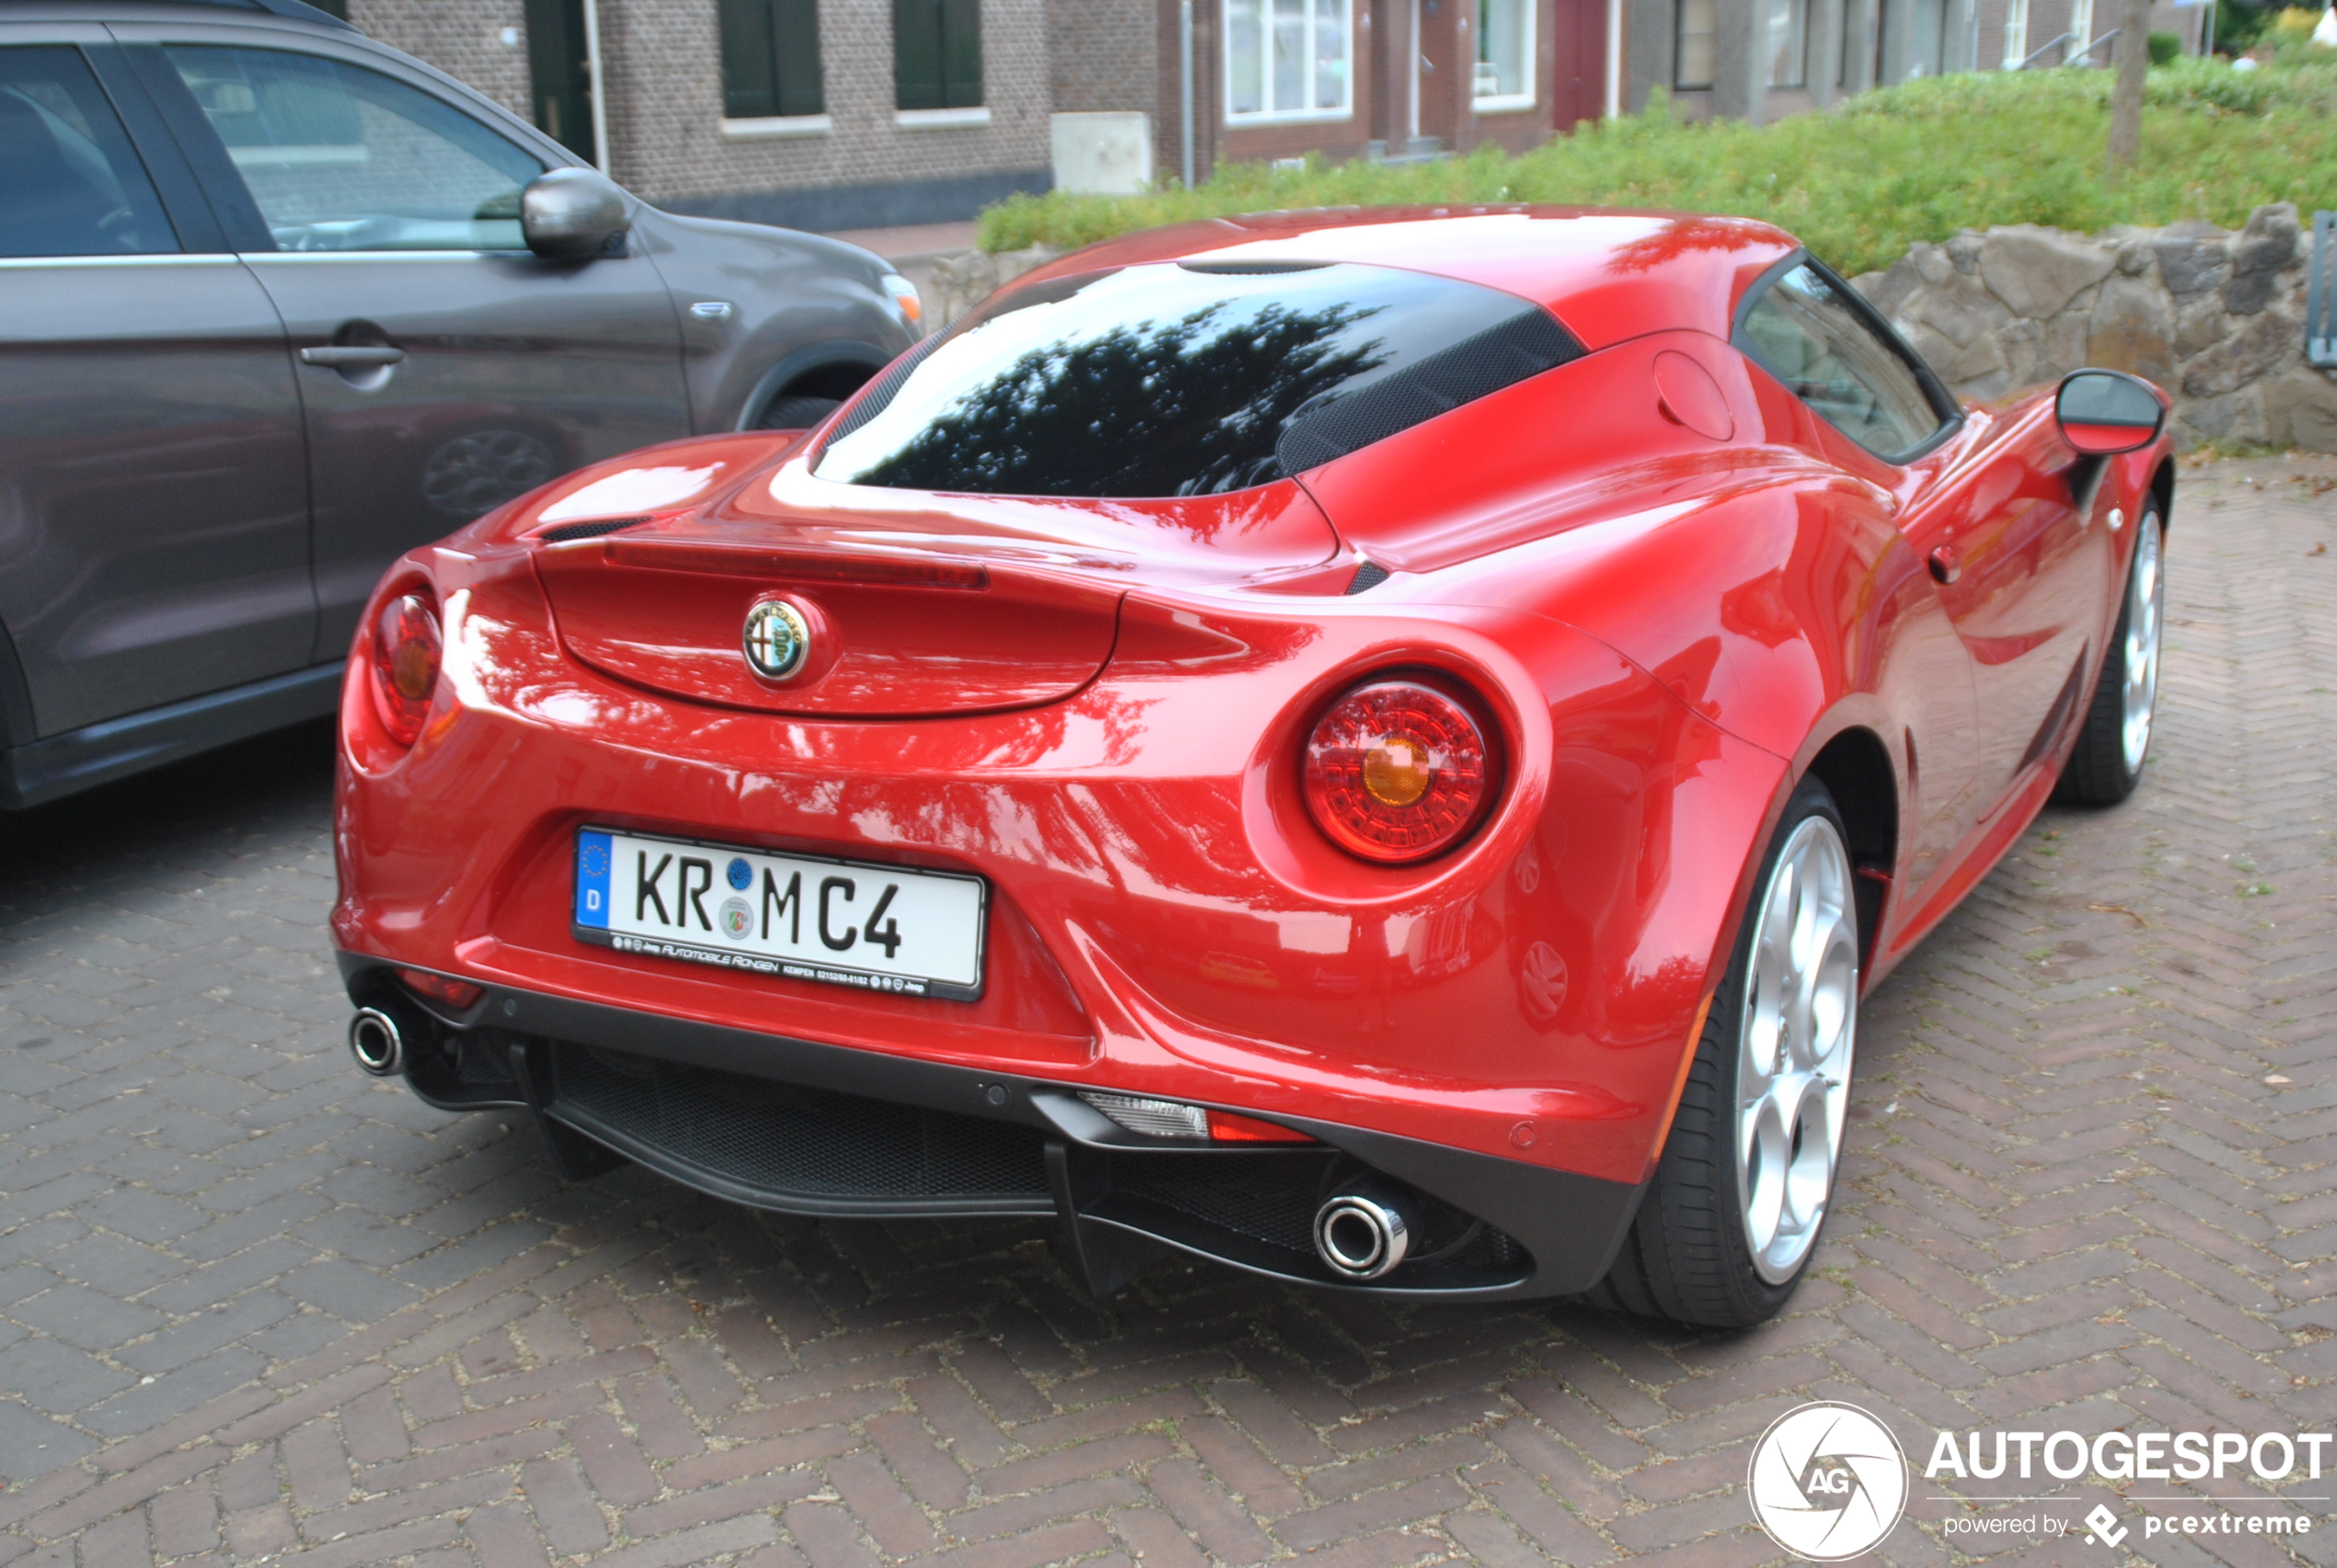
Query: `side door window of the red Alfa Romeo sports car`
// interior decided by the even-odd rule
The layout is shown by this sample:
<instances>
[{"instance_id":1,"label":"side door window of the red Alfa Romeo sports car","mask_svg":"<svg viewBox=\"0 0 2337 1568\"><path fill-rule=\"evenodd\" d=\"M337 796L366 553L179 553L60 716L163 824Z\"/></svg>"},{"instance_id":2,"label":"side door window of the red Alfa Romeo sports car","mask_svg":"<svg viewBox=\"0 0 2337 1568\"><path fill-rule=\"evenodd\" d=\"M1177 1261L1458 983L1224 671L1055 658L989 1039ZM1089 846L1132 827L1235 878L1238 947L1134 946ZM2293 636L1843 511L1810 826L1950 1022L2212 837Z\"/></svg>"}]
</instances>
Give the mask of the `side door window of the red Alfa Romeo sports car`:
<instances>
[{"instance_id":1,"label":"side door window of the red Alfa Romeo sports car","mask_svg":"<svg viewBox=\"0 0 2337 1568\"><path fill-rule=\"evenodd\" d=\"M1877 458L1905 458L1942 425L1907 355L1807 262L1769 280L1736 346Z\"/></svg>"}]
</instances>

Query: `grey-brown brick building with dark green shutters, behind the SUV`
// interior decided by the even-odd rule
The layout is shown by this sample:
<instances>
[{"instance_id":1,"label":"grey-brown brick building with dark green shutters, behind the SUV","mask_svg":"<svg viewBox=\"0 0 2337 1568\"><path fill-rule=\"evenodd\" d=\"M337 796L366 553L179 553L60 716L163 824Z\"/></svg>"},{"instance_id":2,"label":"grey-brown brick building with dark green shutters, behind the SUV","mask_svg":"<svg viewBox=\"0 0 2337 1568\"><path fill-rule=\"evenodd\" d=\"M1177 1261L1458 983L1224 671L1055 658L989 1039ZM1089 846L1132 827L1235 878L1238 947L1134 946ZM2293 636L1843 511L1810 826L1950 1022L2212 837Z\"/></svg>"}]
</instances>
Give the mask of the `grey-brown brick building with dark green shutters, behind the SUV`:
<instances>
[{"instance_id":1,"label":"grey-brown brick building with dark green shutters, behind the SUV","mask_svg":"<svg viewBox=\"0 0 2337 1568\"><path fill-rule=\"evenodd\" d=\"M1047 0L344 2L680 213L853 229L1049 182Z\"/></svg>"}]
</instances>

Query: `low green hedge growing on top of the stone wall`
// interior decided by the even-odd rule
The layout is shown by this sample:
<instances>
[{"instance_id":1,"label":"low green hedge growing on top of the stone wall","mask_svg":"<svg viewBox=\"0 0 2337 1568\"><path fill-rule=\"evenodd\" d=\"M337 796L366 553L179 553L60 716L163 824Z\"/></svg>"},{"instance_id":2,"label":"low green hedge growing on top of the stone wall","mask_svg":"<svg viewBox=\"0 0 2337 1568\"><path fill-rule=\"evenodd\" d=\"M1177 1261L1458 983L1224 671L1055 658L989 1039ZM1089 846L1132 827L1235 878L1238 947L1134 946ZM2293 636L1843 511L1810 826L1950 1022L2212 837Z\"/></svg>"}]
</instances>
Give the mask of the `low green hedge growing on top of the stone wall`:
<instances>
[{"instance_id":1,"label":"low green hedge growing on top of the stone wall","mask_svg":"<svg viewBox=\"0 0 2337 1568\"><path fill-rule=\"evenodd\" d=\"M1865 93L1769 126L1683 124L1664 103L1524 157L1442 164L1220 168L1199 189L1014 196L982 215L984 250L1089 245L1131 229L1276 208L1556 201L1764 217L1846 273L1888 266L1958 229L2206 217L2239 227L2267 201L2337 206L2337 65L2150 72L2141 164L2103 178L2108 70L1975 72Z\"/></svg>"}]
</instances>

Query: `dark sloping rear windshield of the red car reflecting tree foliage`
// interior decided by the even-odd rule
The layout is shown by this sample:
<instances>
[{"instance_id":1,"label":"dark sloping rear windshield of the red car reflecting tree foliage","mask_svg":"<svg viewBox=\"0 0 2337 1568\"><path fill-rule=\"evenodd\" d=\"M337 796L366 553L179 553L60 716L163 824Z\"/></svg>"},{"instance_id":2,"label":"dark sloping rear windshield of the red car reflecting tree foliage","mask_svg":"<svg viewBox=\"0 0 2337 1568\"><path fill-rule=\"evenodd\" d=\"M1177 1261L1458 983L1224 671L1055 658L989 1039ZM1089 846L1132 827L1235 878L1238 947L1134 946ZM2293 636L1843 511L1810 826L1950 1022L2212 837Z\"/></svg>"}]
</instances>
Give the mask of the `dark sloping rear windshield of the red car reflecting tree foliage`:
<instances>
[{"instance_id":1,"label":"dark sloping rear windshield of the red car reflecting tree foliage","mask_svg":"<svg viewBox=\"0 0 2337 1568\"><path fill-rule=\"evenodd\" d=\"M823 479L1215 495L1330 463L1582 348L1498 290L1386 266L1126 266L1033 285L895 367Z\"/></svg>"}]
</instances>

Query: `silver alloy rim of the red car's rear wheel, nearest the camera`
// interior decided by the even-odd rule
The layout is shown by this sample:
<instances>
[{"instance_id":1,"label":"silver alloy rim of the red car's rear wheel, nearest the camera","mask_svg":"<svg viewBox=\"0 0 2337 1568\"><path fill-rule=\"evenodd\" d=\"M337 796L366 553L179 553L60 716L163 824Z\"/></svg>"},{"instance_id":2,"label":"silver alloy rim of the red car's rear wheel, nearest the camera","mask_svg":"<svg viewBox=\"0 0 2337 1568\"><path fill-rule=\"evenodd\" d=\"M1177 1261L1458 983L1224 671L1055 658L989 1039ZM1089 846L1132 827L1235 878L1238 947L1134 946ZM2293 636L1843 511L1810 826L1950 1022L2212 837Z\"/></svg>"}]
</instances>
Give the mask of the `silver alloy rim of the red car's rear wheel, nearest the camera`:
<instances>
[{"instance_id":1,"label":"silver alloy rim of the red car's rear wheel, nearest the camera","mask_svg":"<svg viewBox=\"0 0 2337 1568\"><path fill-rule=\"evenodd\" d=\"M1835 1192L1858 1033L1851 855L1804 818L1769 872L1736 1035L1736 1201L1762 1281L1809 1257Z\"/></svg>"}]
</instances>

